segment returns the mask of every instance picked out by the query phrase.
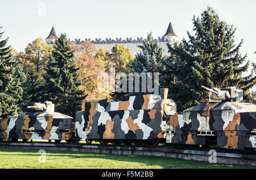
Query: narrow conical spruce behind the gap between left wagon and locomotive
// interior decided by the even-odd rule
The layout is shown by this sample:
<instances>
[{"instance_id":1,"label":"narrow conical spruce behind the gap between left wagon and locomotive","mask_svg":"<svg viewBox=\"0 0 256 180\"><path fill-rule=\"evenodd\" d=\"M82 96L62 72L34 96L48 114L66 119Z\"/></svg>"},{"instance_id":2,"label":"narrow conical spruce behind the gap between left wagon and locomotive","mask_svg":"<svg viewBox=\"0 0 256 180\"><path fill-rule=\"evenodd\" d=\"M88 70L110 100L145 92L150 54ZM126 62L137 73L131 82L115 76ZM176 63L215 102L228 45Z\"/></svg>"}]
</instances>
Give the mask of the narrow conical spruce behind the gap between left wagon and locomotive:
<instances>
[{"instance_id":1,"label":"narrow conical spruce behind the gap between left wagon and locomotive","mask_svg":"<svg viewBox=\"0 0 256 180\"><path fill-rule=\"evenodd\" d=\"M61 34L53 46L52 54L48 56L46 74L43 75L46 84L42 89L44 100L52 101L57 112L75 117L81 110L82 100L86 97L80 88L80 72L73 58L72 47L67 36Z\"/></svg>"}]
</instances>

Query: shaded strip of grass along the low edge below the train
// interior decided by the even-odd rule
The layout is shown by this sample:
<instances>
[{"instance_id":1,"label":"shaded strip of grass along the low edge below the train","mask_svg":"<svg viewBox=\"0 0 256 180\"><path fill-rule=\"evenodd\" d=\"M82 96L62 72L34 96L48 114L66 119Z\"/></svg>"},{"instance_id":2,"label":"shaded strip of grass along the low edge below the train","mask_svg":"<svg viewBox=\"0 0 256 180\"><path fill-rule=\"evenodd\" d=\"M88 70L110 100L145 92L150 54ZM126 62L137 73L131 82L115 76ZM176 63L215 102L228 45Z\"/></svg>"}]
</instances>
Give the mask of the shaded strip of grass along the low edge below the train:
<instances>
[{"instance_id":1,"label":"shaded strip of grass along the low edge below the train","mask_svg":"<svg viewBox=\"0 0 256 180\"><path fill-rule=\"evenodd\" d=\"M11 156L41 156L38 150L32 149L0 149L0 156L10 152ZM20 152L20 153L15 153ZM119 162L137 162L145 166L162 167L162 168L246 168L252 166L228 165L228 164L210 164L195 160L184 160L172 157L156 157L156 156L135 156L135 155L113 155L105 153L86 153L71 151L46 151L46 157L63 157L69 158L100 158L104 160L114 160ZM51 160L57 160L51 159ZM108 167L105 167L108 168Z\"/></svg>"}]
</instances>

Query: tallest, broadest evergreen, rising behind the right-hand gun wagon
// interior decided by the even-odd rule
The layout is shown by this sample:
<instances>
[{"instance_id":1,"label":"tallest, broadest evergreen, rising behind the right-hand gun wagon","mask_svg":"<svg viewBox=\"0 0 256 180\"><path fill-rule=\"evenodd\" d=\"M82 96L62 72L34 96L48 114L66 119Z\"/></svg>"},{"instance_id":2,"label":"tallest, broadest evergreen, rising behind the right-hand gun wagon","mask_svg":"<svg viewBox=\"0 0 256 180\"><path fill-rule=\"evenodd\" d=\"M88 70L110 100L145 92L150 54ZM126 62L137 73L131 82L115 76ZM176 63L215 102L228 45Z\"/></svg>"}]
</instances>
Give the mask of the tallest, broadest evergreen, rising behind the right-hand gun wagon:
<instances>
[{"instance_id":1,"label":"tallest, broadest evergreen, rising behind the right-hand gun wagon","mask_svg":"<svg viewBox=\"0 0 256 180\"><path fill-rule=\"evenodd\" d=\"M255 76L243 78L249 61L241 55L241 40L234 44L236 28L222 21L213 8L208 7L201 17L193 17L193 31L189 40L168 44L171 53L164 61L163 84L169 85L169 95L176 101L178 110L184 110L208 101L208 92L201 85L213 88L236 85L246 91L255 84ZM245 63L245 65L244 65Z\"/></svg>"}]
</instances>

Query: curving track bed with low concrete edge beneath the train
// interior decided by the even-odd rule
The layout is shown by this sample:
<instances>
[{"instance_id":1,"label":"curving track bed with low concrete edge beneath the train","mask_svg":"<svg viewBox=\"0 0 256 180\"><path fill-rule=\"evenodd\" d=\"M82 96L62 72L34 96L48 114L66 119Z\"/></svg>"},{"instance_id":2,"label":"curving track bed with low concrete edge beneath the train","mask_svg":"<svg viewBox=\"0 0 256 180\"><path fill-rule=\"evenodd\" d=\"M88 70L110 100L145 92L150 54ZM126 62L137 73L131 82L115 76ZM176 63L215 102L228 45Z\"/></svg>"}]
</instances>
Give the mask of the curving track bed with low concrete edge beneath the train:
<instances>
[{"instance_id":1,"label":"curving track bed with low concrete edge beneath the train","mask_svg":"<svg viewBox=\"0 0 256 180\"><path fill-rule=\"evenodd\" d=\"M213 162L220 164L240 164L256 166L256 151L241 149L203 148L170 145L117 145L55 142L0 142L0 148L44 149L45 151L73 151L90 153L110 153L119 155L141 155L175 157L186 160Z\"/></svg>"}]
</instances>

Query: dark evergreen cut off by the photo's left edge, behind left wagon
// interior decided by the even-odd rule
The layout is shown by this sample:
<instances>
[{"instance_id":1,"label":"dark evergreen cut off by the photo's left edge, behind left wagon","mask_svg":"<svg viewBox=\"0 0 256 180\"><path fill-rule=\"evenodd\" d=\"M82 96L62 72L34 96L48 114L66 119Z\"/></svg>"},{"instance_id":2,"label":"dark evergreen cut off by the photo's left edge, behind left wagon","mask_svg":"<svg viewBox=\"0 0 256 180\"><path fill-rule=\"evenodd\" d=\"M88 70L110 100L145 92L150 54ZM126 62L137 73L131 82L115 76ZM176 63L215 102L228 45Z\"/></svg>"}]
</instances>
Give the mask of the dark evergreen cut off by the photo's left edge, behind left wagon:
<instances>
[{"instance_id":1,"label":"dark evergreen cut off by the photo's left edge, behind left wagon","mask_svg":"<svg viewBox=\"0 0 256 180\"><path fill-rule=\"evenodd\" d=\"M1 27L0 27L1 29ZM8 38L2 40L0 32L0 118L10 118L19 110L18 101L22 98L22 88L14 73L14 61Z\"/></svg>"}]
</instances>

